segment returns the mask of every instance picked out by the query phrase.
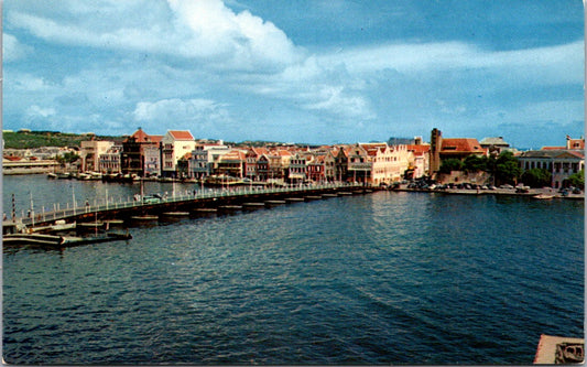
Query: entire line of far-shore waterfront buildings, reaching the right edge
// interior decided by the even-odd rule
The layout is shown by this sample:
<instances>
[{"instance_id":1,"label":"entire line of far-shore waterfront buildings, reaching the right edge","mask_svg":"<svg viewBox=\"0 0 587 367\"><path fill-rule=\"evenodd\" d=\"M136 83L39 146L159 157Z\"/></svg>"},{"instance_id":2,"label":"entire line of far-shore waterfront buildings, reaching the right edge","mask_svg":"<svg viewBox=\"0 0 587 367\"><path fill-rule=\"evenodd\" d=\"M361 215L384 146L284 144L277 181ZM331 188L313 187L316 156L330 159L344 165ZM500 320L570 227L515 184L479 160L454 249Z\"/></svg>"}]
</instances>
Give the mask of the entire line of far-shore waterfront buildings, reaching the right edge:
<instances>
[{"instance_id":1,"label":"entire line of far-shore waterfront buildings, reaching the right edge","mask_svg":"<svg viewBox=\"0 0 587 367\"><path fill-rule=\"evenodd\" d=\"M150 136L139 128L116 144L84 141L80 170L181 179L221 175L262 182L351 181L373 185L404 179L438 179L446 159L499 154L512 151L522 169L544 168L553 174L553 187L584 169L585 139L567 139L566 147L518 152L503 138L444 138L432 130L431 142L414 138L409 144L370 142L302 148L296 145L230 147L222 141L196 140L187 130Z\"/></svg>"}]
</instances>

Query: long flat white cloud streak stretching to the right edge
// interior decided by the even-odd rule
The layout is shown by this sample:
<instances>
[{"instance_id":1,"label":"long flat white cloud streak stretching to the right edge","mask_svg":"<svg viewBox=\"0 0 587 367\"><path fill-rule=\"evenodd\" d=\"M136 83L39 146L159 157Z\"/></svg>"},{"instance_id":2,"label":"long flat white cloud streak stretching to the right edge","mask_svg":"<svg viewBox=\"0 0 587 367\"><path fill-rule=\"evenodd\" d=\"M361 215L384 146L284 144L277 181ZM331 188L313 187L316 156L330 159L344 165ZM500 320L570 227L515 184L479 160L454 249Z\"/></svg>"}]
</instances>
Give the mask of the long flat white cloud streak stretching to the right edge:
<instances>
[{"instance_id":1,"label":"long flat white cloud streak stretching to the right edge","mask_svg":"<svg viewBox=\"0 0 587 367\"><path fill-rule=\"evenodd\" d=\"M402 74L474 69L540 84L583 83L584 43L499 52L461 42L377 45L326 53L319 63L343 63L351 74L388 68Z\"/></svg>"}]
</instances>

